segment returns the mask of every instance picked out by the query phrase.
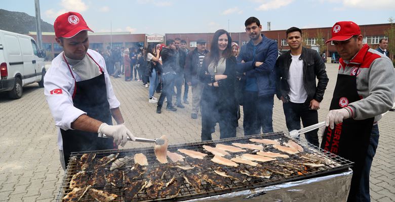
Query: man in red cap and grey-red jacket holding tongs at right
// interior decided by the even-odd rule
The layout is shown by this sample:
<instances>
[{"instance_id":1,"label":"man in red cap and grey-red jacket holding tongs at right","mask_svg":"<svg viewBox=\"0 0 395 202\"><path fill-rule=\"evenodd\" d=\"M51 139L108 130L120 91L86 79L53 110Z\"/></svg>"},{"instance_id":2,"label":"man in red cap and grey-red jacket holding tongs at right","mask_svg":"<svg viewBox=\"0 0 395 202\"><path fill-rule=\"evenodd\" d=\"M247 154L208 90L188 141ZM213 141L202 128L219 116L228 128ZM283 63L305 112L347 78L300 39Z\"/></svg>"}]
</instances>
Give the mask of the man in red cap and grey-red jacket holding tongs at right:
<instances>
[{"instance_id":1,"label":"man in red cap and grey-red jacket holding tongs at right","mask_svg":"<svg viewBox=\"0 0 395 202\"><path fill-rule=\"evenodd\" d=\"M321 147L354 162L347 201L370 201L377 122L392 107L395 72L387 57L362 43L360 27L353 22L337 22L329 41L340 55L340 66Z\"/></svg>"}]
</instances>

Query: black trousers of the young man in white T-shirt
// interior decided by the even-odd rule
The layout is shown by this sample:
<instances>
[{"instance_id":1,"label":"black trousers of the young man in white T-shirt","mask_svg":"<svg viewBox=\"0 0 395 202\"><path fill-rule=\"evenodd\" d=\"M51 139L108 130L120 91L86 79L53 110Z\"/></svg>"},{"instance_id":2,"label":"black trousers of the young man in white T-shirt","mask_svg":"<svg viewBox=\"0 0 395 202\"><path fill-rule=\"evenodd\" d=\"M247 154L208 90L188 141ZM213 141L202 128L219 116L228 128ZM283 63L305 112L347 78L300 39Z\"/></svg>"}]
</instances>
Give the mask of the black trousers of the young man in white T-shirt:
<instances>
[{"instance_id":1,"label":"black trousers of the young man in white T-shirt","mask_svg":"<svg viewBox=\"0 0 395 202\"><path fill-rule=\"evenodd\" d=\"M289 131L300 130L300 119L302 119L303 127L318 123L317 110L309 110L309 106L306 103L283 103L283 109ZM319 146L318 129L304 133L304 137L307 142Z\"/></svg>"}]
</instances>

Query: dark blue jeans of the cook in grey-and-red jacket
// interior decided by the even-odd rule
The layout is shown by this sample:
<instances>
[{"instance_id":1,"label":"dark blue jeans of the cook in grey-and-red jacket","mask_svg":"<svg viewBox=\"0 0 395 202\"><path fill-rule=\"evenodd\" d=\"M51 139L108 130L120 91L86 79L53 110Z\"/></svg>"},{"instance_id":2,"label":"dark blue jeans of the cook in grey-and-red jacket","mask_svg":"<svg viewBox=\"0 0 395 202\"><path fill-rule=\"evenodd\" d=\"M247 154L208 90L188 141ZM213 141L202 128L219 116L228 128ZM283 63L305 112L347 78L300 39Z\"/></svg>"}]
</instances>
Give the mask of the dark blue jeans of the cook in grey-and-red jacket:
<instances>
[{"instance_id":1,"label":"dark blue jeans of the cook in grey-and-red jacket","mask_svg":"<svg viewBox=\"0 0 395 202\"><path fill-rule=\"evenodd\" d=\"M356 201L370 201L370 193L369 193L370 168L372 167L373 157L376 154L378 140L379 140L379 129L377 124L373 126L372 132L370 134L368 153L365 158L365 166L362 169L360 192L357 193Z\"/></svg>"}]
</instances>

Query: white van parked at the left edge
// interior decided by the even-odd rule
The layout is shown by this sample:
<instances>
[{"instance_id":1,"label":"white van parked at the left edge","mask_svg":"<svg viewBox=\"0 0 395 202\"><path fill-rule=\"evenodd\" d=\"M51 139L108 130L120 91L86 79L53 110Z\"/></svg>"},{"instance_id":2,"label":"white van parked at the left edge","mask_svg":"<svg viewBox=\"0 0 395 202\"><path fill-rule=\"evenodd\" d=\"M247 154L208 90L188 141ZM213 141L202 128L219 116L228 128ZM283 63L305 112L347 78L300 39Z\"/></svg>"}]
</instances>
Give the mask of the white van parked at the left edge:
<instances>
[{"instance_id":1,"label":"white van parked at the left edge","mask_svg":"<svg viewBox=\"0 0 395 202\"><path fill-rule=\"evenodd\" d=\"M0 30L0 92L21 98L22 87L38 82L44 87L44 52L30 36Z\"/></svg>"}]
</instances>

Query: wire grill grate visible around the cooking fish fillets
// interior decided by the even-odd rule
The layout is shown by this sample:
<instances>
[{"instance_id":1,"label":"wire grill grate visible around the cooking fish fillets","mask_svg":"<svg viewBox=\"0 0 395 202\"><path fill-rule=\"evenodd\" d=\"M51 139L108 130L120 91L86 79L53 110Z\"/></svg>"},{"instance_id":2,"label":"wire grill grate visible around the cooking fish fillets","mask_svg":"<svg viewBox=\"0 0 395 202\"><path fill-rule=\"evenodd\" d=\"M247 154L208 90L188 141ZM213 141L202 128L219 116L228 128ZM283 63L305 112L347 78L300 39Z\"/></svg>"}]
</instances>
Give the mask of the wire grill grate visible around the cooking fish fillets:
<instances>
[{"instance_id":1,"label":"wire grill grate visible around the cooking fish fillets","mask_svg":"<svg viewBox=\"0 0 395 202\"><path fill-rule=\"evenodd\" d=\"M177 149L179 149L179 148L200 151L202 153L208 154L208 156L205 159L210 160L211 158L213 158L213 155L211 153L209 153L208 151L205 151L202 147L203 145L215 146L215 144L217 144L217 143L231 145L231 143L233 143L233 142L253 143L253 142L249 141L250 138L272 139L272 140L279 140L280 142L286 142L289 139L291 139L285 132L273 132L273 133L265 133L265 134L260 134L260 135L234 137L234 138L203 141L203 142L172 144L172 145L168 146L168 150L171 152L177 152L177 153L179 153L177 151ZM293 139L293 140L297 141L295 139ZM170 142L171 142L171 140L170 140ZM329 175L329 174L333 174L333 173L338 173L341 171L346 171L346 170L349 170L349 168L352 165L352 162L350 162L344 158L341 158L339 156L328 153L327 151L325 151L321 148L318 148L312 144L309 144L306 142L298 142L298 143L304 148L303 153L314 154L314 155L317 155L321 158L330 159L332 164L326 165L326 166L320 167L320 168L309 168L306 170L306 173L304 173L302 175L295 172L291 176L285 177L283 175L273 173L269 179L248 177L247 180L244 182L238 182L235 180L231 180L231 183L227 184L226 188L224 188L224 189L221 189L215 185L212 185L202 179L202 185L200 186L200 189L201 189L200 193L196 193L194 188L192 186L190 186L182 178L182 176L185 173L195 173L196 171L194 171L194 170L184 171L181 169L171 169L165 173L165 175L163 177L163 182L166 183L166 182L170 181L173 177L183 180L181 189L180 189L180 193L176 198L172 198L172 199L160 198L160 196L159 196L157 199L155 199L155 201L156 200L158 200L158 201L159 200L161 200L161 201L162 200L164 200L164 201L167 201L167 200L182 201L182 200L203 198L203 197L225 194L225 193L230 193L230 192L254 189L254 188L259 188L259 187L266 187L266 186L280 184L280 183L284 183L284 182L303 180L303 179L308 179L308 178L312 178L312 177L325 176L325 175ZM270 145L264 145L263 150L264 151L272 151L275 153L282 153L281 151L274 149ZM114 153L120 153L118 158L122 158L125 156L133 157L134 154L142 153L147 157L147 160L149 163L149 166L147 166L148 170L152 170L154 168L160 167L161 165L163 166L163 164L160 164L156 160L156 157L153 152L153 147L87 151L87 152L82 152L82 153L72 153L71 156L76 156L77 159L80 159L81 156L86 153L94 153L94 154L96 154L96 158L98 158L98 159L108 156L110 154L114 154ZM247 152L245 152L245 153L254 153L254 151L247 149ZM231 153L232 156L241 155L241 154L242 153ZM183 155L183 156L186 156L186 155ZM289 158L282 159L281 161L286 162L286 161L291 161L294 159L299 159L299 156L289 155ZM273 162L266 162L266 163L259 163L259 164L261 164L262 166L273 165ZM110 172L109 171L110 165L111 164L107 165L106 173ZM131 165L133 165L133 161L132 161ZM239 164L239 165L250 167L250 166L243 165L243 164ZM129 166L121 168L120 170L130 169L130 167L131 166L129 165ZM226 167L226 166L222 166L222 167L229 168L230 170L233 169L233 168ZM61 182L61 186L59 188L59 192L56 195L57 201L61 201L62 197L71 191L71 189L69 189L69 182L70 182L72 176L75 173L77 173L78 171L80 171L80 168L81 168L81 166L75 162L70 161L68 163L66 172L65 172L62 182ZM90 166L86 171L92 172L93 167ZM207 168L207 170L205 172L213 172L214 173L214 170L211 170L211 168ZM149 172L145 173L144 175L140 176L139 178L137 178L135 180L147 179L148 173ZM127 187L127 184L125 184L125 188L126 187ZM93 186L92 188L95 188L95 187ZM109 193L114 193L114 194L118 195L118 197L114 201L124 201L124 195L125 195L125 193L123 191L124 188L116 188L116 187L110 185L109 183L107 183L107 186L105 186L104 188L100 187L98 189L105 190ZM86 194L80 201L95 201L95 199L93 199L91 196L89 196L89 194ZM142 190L132 201L153 201L153 200L151 200L147 197L145 190Z\"/></svg>"}]
</instances>

